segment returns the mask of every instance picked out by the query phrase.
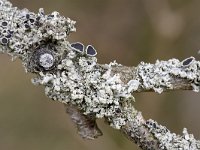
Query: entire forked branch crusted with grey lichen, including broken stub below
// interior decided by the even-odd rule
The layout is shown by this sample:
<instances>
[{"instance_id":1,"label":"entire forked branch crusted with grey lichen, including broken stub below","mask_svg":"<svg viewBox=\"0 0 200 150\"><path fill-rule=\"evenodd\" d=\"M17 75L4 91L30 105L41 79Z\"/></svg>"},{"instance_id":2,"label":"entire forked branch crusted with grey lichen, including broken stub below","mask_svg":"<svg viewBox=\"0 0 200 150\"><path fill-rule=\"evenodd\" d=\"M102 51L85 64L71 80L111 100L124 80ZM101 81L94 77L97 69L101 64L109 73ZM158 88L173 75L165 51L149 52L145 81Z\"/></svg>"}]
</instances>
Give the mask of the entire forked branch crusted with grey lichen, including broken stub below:
<instances>
[{"instance_id":1,"label":"entire forked branch crusted with grey lichen, including broken stub below","mask_svg":"<svg viewBox=\"0 0 200 150\"><path fill-rule=\"evenodd\" d=\"M193 57L155 64L141 62L126 67L116 62L98 64L93 46L84 51L70 44L75 21L58 12L12 7L0 0L0 51L19 58L32 82L45 87L45 94L65 104L67 113L86 139L102 135L95 122L105 118L142 149L200 149L200 142L187 133L171 133L153 120L145 120L132 102L135 92L193 90L200 88L200 62Z\"/></svg>"}]
</instances>

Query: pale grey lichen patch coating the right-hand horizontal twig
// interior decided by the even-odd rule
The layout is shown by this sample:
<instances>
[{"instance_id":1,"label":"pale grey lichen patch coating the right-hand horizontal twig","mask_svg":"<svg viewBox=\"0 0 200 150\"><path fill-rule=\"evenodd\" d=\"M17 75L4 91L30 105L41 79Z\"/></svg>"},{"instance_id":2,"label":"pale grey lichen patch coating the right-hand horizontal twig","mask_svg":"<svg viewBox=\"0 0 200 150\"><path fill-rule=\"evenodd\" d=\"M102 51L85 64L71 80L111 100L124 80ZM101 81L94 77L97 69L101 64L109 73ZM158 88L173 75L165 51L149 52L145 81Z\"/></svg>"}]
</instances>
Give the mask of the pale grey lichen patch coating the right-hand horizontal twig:
<instances>
[{"instance_id":1,"label":"pale grey lichen patch coating the right-hand horizontal twig","mask_svg":"<svg viewBox=\"0 0 200 150\"><path fill-rule=\"evenodd\" d=\"M184 79L191 83L193 90L200 88L200 62L193 57L180 62L177 59L156 61L155 64L140 63L138 65L138 78L141 88L162 93L166 89L174 89L175 79Z\"/></svg>"}]
</instances>

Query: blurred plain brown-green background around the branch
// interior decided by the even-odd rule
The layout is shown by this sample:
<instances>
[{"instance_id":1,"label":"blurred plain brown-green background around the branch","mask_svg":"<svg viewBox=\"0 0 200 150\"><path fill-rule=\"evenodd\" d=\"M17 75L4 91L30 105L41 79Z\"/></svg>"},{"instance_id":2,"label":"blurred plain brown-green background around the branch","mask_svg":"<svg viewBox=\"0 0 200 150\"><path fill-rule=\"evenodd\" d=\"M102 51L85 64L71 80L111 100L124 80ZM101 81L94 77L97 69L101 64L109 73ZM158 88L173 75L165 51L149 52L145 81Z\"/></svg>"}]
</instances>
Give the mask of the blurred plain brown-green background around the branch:
<instances>
[{"instance_id":1,"label":"blurred plain brown-green background around the branch","mask_svg":"<svg viewBox=\"0 0 200 150\"><path fill-rule=\"evenodd\" d=\"M92 44L99 63L127 66L197 55L200 49L199 0L11 0L13 5L46 13L54 10L77 21L69 41ZM0 55L1 150L139 150L119 131L98 120L104 136L84 141L76 134L62 104L34 86L19 60ZM175 91L135 94L135 107L181 134L184 127L200 139L199 93Z\"/></svg>"}]
</instances>

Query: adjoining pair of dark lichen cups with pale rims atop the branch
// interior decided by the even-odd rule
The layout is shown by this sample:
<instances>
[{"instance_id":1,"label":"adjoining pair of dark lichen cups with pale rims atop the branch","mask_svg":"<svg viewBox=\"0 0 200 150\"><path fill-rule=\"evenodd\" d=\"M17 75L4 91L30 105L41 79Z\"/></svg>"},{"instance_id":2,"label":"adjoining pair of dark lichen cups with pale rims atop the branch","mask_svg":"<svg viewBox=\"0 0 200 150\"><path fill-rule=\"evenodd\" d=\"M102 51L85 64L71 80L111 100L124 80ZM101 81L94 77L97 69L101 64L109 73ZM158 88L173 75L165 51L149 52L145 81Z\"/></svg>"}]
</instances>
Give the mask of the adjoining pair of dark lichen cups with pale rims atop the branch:
<instances>
[{"instance_id":1,"label":"adjoining pair of dark lichen cups with pale rims atop the branch","mask_svg":"<svg viewBox=\"0 0 200 150\"><path fill-rule=\"evenodd\" d=\"M70 47L82 54L86 54L87 56L96 56L97 51L92 45L88 45L86 48L81 42L74 42L70 44Z\"/></svg>"}]
</instances>

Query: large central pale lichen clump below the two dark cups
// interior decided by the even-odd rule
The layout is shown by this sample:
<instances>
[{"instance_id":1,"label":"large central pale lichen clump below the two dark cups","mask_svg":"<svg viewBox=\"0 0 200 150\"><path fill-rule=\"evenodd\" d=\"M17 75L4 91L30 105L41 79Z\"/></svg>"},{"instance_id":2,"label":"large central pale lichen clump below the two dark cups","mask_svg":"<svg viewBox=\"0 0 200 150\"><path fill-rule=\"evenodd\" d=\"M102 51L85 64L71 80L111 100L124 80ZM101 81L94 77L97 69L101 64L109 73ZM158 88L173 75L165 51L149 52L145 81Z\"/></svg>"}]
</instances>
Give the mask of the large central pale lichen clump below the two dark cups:
<instances>
[{"instance_id":1,"label":"large central pale lichen clump below the two dark cups","mask_svg":"<svg viewBox=\"0 0 200 150\"><path fill-rule=\"evenodd\" d=\"M107 70L99 70L96 57L83 57L69 49L56 74L41 72L34 83L44 85L51 99L79 106L86 115L109 118L110 124L119 129L125 125L127 109L131 108L122 105L134 99L131 93L137 90L139 82L131 80L124 84L119 75L111 74L113 65L118 64L111 63Z\"/></svg>"}]
</instances>

